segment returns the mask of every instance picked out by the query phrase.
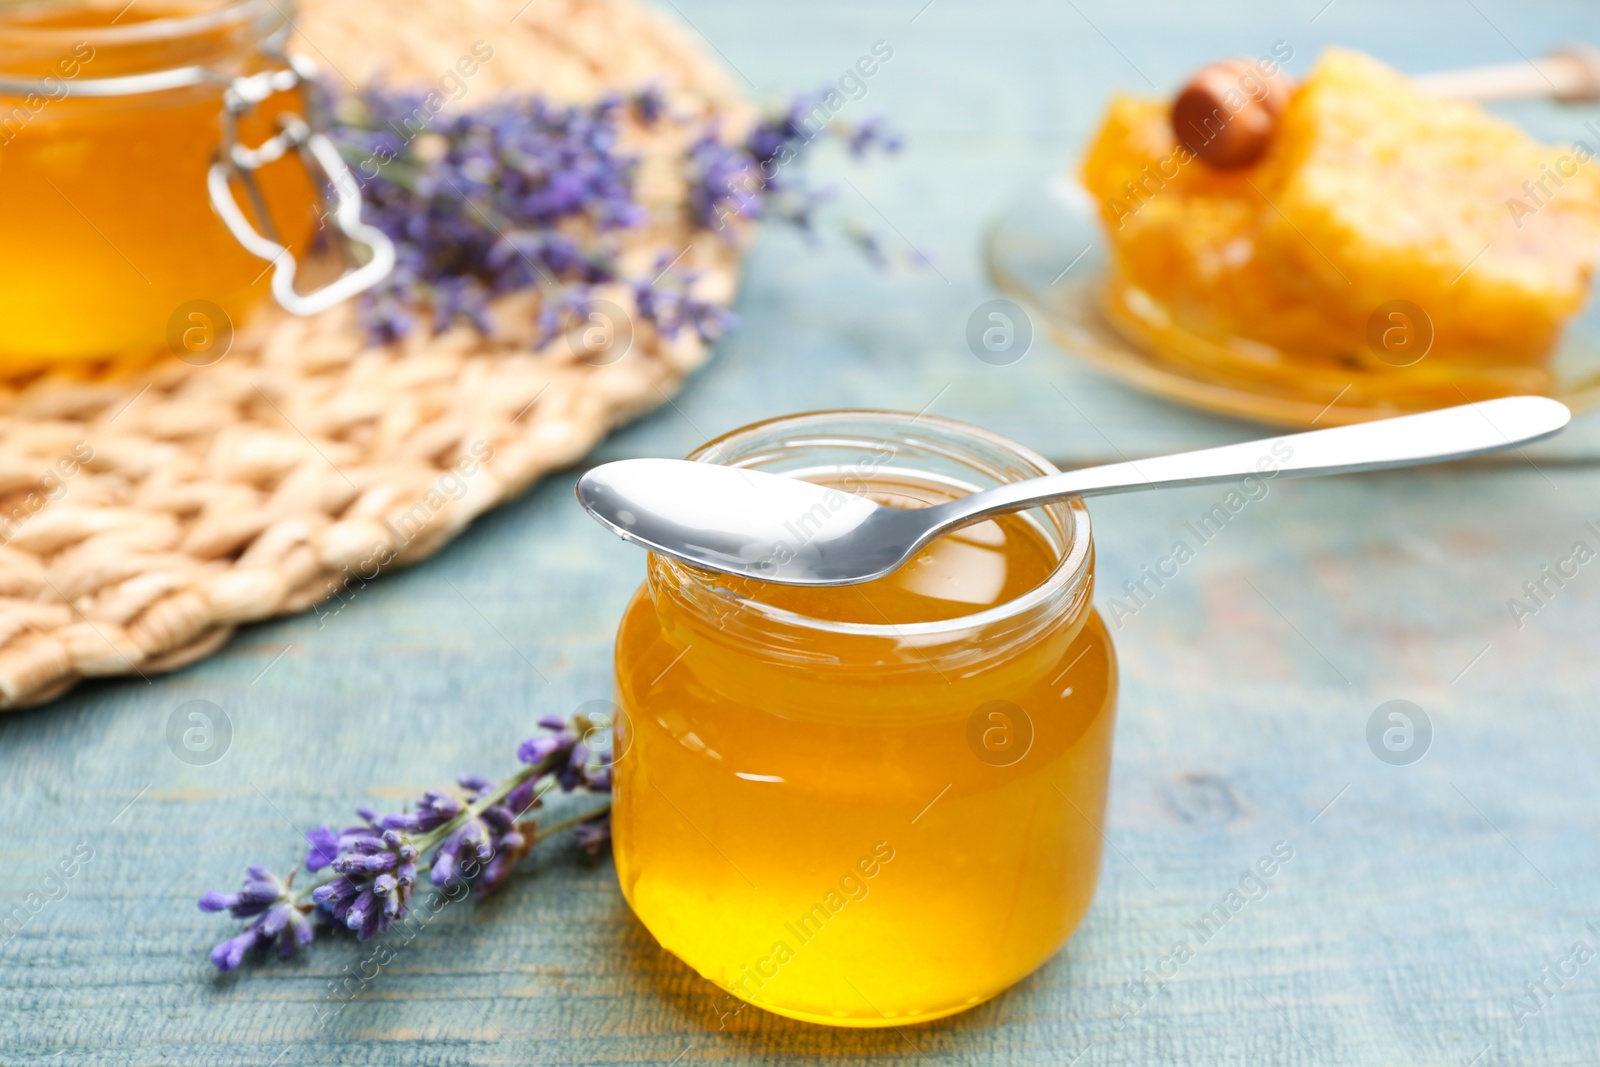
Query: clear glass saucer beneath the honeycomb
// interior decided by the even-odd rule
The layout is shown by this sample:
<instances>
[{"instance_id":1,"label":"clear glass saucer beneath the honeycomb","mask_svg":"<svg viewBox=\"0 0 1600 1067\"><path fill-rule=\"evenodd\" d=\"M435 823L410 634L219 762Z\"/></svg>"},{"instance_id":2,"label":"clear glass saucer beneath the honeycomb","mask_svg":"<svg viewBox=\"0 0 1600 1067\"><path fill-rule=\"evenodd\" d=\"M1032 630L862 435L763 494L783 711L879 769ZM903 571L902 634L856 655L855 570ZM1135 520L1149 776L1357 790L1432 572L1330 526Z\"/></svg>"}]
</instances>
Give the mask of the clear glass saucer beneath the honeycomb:
<instances>
[{"instance_id":1,"label":"clear glass saucer beneath the honeycomb","mask_svg":"<svg viewBox=\"0 0 1600 1067\"><path fill-rule=\"evenodd\" d=\"M1027 307L1066 352L1182 405L1283 427L1341 426L1515 394L1600 405L1600 293L1594 286L1547 366L1446 366L1422 358L1330 363L1246 339L1218 342L1170 323L1138 290L1117 290L1094 205L1053 176L1013 197L989 224L994 285Z\"/></svg>"}]
</instances>

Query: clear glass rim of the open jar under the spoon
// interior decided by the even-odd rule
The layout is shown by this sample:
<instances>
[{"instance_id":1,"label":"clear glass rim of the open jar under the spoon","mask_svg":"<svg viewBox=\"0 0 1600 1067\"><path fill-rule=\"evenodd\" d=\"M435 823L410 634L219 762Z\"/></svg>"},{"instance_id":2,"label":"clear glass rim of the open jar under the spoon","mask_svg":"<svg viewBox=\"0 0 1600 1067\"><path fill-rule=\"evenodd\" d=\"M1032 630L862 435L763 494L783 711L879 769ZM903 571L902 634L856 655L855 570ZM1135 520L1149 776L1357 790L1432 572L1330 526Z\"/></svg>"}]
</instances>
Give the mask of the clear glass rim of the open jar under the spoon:
<instances>
[{"instance_id":1,"label":"clear glass rim of the open jar under the spoon","mask_svg":"<svg viewBox=\"0 0 1600 1067\"><path fill-rule=\"evenodd\" d=\"M1013 459L1021 461L1027 467L1032 467L1037 474L1032 477L1045 477L1051 474L1059 474L1059 469L1035 453L1034 450L1021 445L1002 434L984 429L981 426L973 426L971 422L962 422L958 419L946 419L942 416L933 414L910 414L906 411L890 411L878 408L835 408L821 411L802 411L795 414L784 414L773 419L763 419L760 422L750 422L736 430L730 430L720 437L715 437L694 451L691 451L685 459L694 462L718 462L718 456L730 451L730 445L741 440L752 440L758 435L770 434L774 429L784 429L794 426L800 427L826 427L827 422L842 422L848 419L883 419L885 422L901 422L906 427L928 426L944 430L957 438L970 438L992 450L1008 454ZM733 466L739 466L734 462ZM1070 522L1072 539L1066 544L1056 565L1051 568L1045 581L1038 582L1027 592L1013 600L1008 600L982 611L974 611L971 614L960 614L950 619L938 619L933 622L840 622L835 619L819 619L816 616L802 614L797 611L789 611L786 608L774 608L773 605L763 603L760 600L752 600L749 597L741 597L738 592L717 585L718 593L730 597L738 601L741 611L752 611L763 621L789 625L800 630L811 632L827 632L827 633L845 633L851 637L864 638L882 638L882 640L902 640L902 638L955 638L963 632L976 630L995 624L1003 624L1026 617L1032 611L1043 609L1053 600L1070 601L1074 593L1086 582L1090 573L1090 561L1093 558L1093 528L1090 523L1088 507L1080 498L1070 498L1066 501L1058 501L1053 504L1045 504L1042 510L1056 510ZM694 568L678 563L675 560L667 560L666 557L651 553L650 557L651 574L658 571L670 573L677 582L691 582L691 574ZM696 582L699 584L699 582ZM704 585L702 585L704 587Z\"/></svg>"}]
</instances>

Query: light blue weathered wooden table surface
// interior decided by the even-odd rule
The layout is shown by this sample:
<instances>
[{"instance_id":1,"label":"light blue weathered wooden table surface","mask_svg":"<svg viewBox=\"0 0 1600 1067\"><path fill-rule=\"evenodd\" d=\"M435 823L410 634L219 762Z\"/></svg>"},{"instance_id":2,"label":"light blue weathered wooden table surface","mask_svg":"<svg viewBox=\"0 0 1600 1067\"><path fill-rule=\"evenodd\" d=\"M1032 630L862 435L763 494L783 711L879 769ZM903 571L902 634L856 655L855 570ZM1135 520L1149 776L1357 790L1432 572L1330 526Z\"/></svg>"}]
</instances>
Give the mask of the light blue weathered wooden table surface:
<instances>
[{"instance_id":1,"label":"light blue weathered wooden table surface","mask_svg":"<svg viewBox=\"0 0 1600 1067\"><path fill-rule=\"evenodd\" d=\"M603 458L830 406L928 408L1062 464L1242 440L1254 430L1043 344L1013 366L973 358L966 315L994 296L986 216L1067 165L1114 86L1170 91L1214 56L1286 40L1299 72L1338 42L1430 70L1600 38L1587 0L675 3L762 93L891 43L851 109L891 115L912 147L846 171L842 205L938 269L883 277L763 237L739 331ZM1595 117L1507 114L1549 139ZM498 901L440 917L328 1025L355 942L214 977L205 953L232 925L195 910L200 891L246 862L288 865L298 830L358 803L501 773L538 713L608 696L642 557L554 478L331 617L0 721L0 912L93 849L62 899L0 939L0 1064L1597 1064L1600 958L1568 960L1578 942L1600 952L1600 565L1522 629L1506 600L1574 541L1600 545L1584 525L1600 522L1600 426L1530 454L1274 485L1126 619L1094 909L1048 966L965 1016L906 1032L723 1019L728 998L630 918L610 861L563 845ZM1096 502L1102 603L1213 496ZM168 749L190 699L234 723L219 763ZM1390 699L1432 725L1410 766L1368 747ZM1189 925L1275 841L1293 861L1200 944ZM1178 941L1194 947L1181 965Z\"/></svg>"}]
</instances>

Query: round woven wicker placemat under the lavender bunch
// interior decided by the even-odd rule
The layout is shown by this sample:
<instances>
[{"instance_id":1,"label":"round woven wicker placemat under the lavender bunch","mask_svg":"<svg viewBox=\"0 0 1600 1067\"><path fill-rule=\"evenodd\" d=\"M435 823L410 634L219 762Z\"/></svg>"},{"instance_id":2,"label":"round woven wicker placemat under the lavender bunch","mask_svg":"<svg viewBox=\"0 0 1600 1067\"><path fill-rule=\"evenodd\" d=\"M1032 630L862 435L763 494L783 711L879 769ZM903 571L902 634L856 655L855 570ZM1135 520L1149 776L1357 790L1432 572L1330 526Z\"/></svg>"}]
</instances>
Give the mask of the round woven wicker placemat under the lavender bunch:
<instances>
[{"instance_id":1,"label":"round woven wicker placemat under the lavender bunch","mask_svg":"<svg viewBox=\"0 0 1600 1067\"><path fill-rule=\"evenodd\" d=\"M654 83L733 125L744 107L675 26L629 0L306 0L298 29L352 85L429 85L488 42L466 102ZM667 160L699 131L666 123L630 146L646 206L682 203ZM726 242L683 211L654 216L629 237L637 259L686 250L696 296L730 302ZM597 296L632 310L613 290ZM533 301L502 298L486 338L456 326L381 347L352 307L269 312L208 366L130 358L0 387L0 709L181 667L242 622L426 558L664 403L707 355L693 331L667 339L638 317L621 358L581 358L566 338L534 350Z\"/></svg>"}]
</instances>

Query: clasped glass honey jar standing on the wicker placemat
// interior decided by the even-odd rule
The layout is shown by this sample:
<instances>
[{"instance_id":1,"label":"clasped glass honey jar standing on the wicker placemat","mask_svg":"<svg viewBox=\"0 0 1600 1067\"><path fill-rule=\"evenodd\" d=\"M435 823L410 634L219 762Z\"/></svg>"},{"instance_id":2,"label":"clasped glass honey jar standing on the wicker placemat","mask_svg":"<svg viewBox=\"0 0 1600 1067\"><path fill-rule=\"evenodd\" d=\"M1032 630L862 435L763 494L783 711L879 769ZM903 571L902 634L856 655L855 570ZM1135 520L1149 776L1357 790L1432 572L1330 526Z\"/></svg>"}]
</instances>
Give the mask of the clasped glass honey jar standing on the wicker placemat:
<instances>
[{"instance_id":1,"label":"clasped glass honey jar standing on the wicker placemat","mask_svg":"<svg viewBox=\"0 0 1600 1067\"><path fill-rule=\"evenodd\" d=\"M294 286L320 219L368 245L365 274L328 296L387 272L387 240L358 226L355 182L315 130L312 70L283 51L291 13L0 0L0 374L187 355L269 293L298 314L330 306Z\"/></svg>"}]
</instances>

